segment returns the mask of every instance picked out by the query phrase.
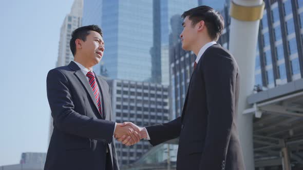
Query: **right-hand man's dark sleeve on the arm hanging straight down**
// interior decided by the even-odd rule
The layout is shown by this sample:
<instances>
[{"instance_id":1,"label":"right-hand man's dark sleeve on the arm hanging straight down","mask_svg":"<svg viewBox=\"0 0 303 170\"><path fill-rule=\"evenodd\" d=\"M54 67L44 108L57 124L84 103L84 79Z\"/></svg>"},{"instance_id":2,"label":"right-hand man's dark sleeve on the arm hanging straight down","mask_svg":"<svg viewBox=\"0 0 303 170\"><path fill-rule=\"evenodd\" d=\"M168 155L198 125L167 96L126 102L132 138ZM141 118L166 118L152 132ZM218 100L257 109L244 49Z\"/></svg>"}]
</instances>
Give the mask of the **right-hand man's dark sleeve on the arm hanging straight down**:
<instances>
[{"instance_id":1,"label":"right-hand man's dark sleeve on the arm hanging straight down","mask_svg":"<svg viewBox=\"0 0 303 170\"><path fill-rule=\"evenodd\" d=\"M205 55L201 68L209 115L200 169L221 169L229 145L233 117L236 114L237 66L231 56L216 53Z\"/></svg>"}]
</instances>

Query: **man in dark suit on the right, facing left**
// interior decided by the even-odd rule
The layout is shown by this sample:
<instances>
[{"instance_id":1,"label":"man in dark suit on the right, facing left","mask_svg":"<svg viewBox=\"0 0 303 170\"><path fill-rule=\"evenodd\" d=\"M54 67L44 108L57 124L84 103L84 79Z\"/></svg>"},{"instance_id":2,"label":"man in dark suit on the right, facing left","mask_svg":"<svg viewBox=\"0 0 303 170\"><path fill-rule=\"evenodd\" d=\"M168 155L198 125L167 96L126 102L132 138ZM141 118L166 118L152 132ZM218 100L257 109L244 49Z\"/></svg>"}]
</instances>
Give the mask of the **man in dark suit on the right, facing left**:
<instances>
[{"instance_id":1,"label":"man in dark suit on the right, facing left","mask_svg":"<svg viewBox=\"0 0 303 170\"><path fill-rule=\"evenodd\" d=\"M223 18L207 6L188 10L182 17L182 48L197 58L181 117L146 128L123 125L140 131L152 145L179 137L177 169L243 170L237 131L239 69L232 54L216 43L224 29Z\"/></svg>"}]
</instances>

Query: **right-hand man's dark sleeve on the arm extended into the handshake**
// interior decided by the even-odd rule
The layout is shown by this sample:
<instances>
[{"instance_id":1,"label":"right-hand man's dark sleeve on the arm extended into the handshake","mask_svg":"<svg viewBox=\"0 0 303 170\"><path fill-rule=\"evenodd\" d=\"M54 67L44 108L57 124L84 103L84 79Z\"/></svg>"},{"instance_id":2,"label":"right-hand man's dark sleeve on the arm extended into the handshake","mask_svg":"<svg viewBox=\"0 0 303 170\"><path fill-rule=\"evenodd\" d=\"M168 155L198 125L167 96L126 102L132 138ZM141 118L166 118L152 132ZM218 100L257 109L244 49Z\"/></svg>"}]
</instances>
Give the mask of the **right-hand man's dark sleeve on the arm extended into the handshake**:
<instances>
[{"instance_id":1,"label":"right-hand man's dark sleeve on the arm extended into the handshake","mask_svg":"<svg viewBox=\"0 0 303 170\"><path fill-rule=\"evenodd\" d=\"M167 123L155 124L147 126L146 130L150 137L150 144L155 146L160 143L175 139L180 136L181 117L176 118Z\"/></svg>"}]
</instances>

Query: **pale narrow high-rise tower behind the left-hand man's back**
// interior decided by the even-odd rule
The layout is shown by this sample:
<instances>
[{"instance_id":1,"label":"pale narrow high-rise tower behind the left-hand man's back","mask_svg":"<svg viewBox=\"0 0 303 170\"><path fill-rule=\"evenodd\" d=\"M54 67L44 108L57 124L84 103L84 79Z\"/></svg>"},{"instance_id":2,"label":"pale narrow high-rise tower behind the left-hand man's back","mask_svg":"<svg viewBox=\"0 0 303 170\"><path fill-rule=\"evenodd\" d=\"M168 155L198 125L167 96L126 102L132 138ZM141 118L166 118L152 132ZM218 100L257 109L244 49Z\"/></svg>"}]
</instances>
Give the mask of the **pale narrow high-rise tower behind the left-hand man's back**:
<instances>
[{"instance_id":1,"label":"pale narrow high-rise tower behind the left-hand man's back","mask_svg":"<svg viewBox=\"0 0 303 170\"><path fill-rule=\"evenodd\" d=\"M73 30L82 26L82 10L83 0L74 0L70 13L63 20L60 31L58 59L56 67L66 66L73 60L73 55L70 51L69 41ZM50 117L49 123L49 140L53 130L53 119Z\"/></svg>"}]
</instances>

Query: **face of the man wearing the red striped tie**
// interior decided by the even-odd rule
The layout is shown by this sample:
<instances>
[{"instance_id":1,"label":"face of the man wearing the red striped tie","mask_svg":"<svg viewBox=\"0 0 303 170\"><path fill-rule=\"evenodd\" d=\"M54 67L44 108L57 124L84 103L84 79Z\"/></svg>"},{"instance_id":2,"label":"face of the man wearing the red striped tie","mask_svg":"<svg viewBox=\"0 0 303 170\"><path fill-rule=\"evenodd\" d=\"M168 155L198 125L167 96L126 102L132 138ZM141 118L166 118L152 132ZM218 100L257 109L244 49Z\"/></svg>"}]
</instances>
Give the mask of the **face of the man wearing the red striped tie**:
<instances>
[{"instance_id":1,"label":"face of the man wearing the red striped tie","mask_svg":"<svg viewBox=\"0 0 303 170\"><path fill-rule=\"evenodd\" d=\"M82 51L86 59L94 66L102 59L104 52L104 41L101 35L96 31L90 31L83 41Z\"/></svg>"}]
</instances>

